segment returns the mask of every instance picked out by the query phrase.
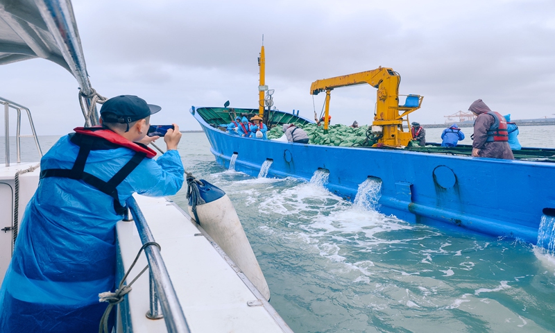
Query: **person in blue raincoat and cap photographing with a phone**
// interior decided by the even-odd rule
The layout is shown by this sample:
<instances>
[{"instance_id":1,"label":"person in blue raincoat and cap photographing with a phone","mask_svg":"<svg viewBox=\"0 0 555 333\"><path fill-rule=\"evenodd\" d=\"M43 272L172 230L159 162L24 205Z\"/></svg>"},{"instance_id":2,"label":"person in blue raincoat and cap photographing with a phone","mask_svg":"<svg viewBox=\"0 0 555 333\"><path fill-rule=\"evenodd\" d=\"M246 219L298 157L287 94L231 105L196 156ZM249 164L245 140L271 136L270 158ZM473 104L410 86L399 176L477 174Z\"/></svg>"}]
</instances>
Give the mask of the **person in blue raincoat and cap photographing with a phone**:
<instances>
[{"instance_id":1,"label":"person in blue raincoat and cap photographing with a phone","mask_svg":"<svg viewBox=\"0 0 555 333\"><path fill-rule=\"evenodd\" d=\"M114 291L115 225L126 199L135 192L173 195L183 184L176 124L157 160L136 143L156 138L145 136L159 110L137 96L109 99L103 127L76 128L42 157L0 289L0 332L99 331L107 303L98 295Z\"/></svg>"}]
</instances>

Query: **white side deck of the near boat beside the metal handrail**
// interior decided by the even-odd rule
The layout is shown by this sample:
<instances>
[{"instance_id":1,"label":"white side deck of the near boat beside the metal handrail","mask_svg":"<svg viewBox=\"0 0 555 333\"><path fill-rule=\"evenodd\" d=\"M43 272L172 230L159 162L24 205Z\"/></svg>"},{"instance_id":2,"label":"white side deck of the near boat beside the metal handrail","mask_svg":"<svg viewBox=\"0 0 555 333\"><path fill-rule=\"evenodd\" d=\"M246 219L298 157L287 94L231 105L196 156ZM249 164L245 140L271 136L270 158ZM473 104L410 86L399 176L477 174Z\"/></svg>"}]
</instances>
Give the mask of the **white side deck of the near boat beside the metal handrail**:
<instances>
[{"instance_id":1,"label":"white side deck of the near boat beside the metal handrail","mask_svg":"<svg viewBox=\"0 0 555 333\"><path fill-rule=\"evenodd\" d=\"M244 283L244 277L212 246L187 213L166 198L135 195L180 300L191 332L291 332L275 310ZM135 259L141 240L134 222L120 221L117 233L123 266ZM128 281L146 266L142 255ZM258 293L259 294L259 293ZM146 318L148 274L128 294L133 332L165 332L164 320ZM249 306L249 303L253 306Z\"/></svg>"}]
</instances>

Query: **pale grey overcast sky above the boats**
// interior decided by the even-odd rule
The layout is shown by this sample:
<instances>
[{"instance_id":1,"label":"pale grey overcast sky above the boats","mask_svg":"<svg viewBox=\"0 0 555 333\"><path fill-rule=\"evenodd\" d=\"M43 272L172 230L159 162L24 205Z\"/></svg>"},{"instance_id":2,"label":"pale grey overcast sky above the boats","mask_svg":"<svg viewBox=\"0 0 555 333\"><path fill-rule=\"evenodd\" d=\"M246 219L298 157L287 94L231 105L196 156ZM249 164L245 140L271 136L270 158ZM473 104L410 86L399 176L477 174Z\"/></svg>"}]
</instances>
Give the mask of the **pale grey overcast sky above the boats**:
<instances>
[{"instance_id":1,"label":"pale grey overcast sky above the boats","mask_svg":"<svg viewBox=\"0 0 555 333\"><path fill-rule=\"evenodd\" d=\"M400 94L425 96L411 121L443 123L476 99L513 119L555 117L553 0L73 4L92 86L162 106L152 123L196 130L191 105L256 108L263 34L280 110L313 117L311 82L382 66L401 75ZM335 89L332 123L369 123L375 94ZM30 108L39 135L83 125L76 81L47 60L1 66L0 96Z\"/></svg>"}]
</instances>

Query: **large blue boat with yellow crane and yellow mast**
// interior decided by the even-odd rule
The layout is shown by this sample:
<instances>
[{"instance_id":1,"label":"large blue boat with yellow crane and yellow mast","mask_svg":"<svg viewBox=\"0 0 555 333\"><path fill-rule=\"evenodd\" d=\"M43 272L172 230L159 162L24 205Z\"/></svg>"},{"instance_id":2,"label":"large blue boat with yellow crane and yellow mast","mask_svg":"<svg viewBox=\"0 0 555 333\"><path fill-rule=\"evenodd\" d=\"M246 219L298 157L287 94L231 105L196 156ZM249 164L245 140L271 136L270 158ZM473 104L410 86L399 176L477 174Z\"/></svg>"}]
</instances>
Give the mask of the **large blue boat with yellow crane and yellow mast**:
<instances>
[{"instance_id":1,"label":"large blue boat with yellow crane and yellow mast","mask_svg":"<svg viewBox=\"0 0 555 333\"><path fill-rule=\"evenodd\" d=\"M318 169L329 172L327 188L353 200L367 180L381 184L379 211L413 223L472 230L494 237L538 241L538 227L555 212L555 149L522 148L515 160L470 157L472 147L411 146L408 114L418 110L422 96L408 95L400 105L400 76L393 69L340 76L312 83L311 94L326 93L324 133L328 130L330 93L334 87L370 84L377 88L375 120L366 142L358 147L296 144L239 137L221 123L237 115L260 115L268 127L314 123L270 110L271 94L264 91L264 46L259 58L259 108L192 107L190 112L210 141L216 162L256 176L271 162L268 176L309 180ZM269 97L268 97L269 96ZM268 103L269 102L269 103ZM264 108L268 106L268 109Z\"/></svg>"}]
</instances>

